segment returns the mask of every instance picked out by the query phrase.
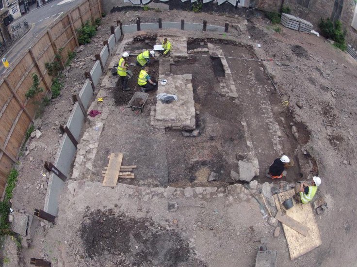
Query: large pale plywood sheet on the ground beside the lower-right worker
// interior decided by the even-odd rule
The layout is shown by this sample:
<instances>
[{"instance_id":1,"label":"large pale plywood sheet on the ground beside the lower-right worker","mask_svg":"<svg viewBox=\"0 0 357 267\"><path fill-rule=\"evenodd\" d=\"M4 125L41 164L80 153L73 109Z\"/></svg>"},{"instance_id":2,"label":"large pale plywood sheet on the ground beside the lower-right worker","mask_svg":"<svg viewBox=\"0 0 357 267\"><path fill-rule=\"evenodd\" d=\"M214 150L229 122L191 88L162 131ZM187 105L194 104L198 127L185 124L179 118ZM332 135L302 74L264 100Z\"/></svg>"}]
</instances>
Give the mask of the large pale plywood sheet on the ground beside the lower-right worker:
<instances>
[{"instance_id":1,"label":"large pale plywood sheet on the ground beside the lower-right worker","mask_svg":"<svg viewBox=\"0 0 357 267\"><path fill-rule=\"evenodd\" d=\"M291 198L293 195L294 189L280 193L279 197L281 202L284 202L286 199ZM274 195L274 200L278 212L281 212L281 207L276 195ZM282 224L285 237L288 242L291 260L300 257L308 251L312 251L322 244L320 231L317 227L311 204L295 204L291 209L286 211L286 214L308 228L308 235L303 236L284 223Z\"/></svg>"}]
</instances>

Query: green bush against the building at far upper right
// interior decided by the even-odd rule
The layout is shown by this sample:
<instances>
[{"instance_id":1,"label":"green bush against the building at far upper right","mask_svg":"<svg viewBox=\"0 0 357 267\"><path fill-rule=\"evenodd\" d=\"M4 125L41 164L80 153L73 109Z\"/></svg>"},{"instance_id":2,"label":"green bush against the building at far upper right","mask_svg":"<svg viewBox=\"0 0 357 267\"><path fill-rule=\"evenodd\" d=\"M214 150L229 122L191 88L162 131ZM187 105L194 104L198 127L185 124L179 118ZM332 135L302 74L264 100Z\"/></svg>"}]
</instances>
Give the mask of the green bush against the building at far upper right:
<instances>
[{"instance_id":1,"label":"green bush against the building at far upper right","mask_svg":"<svg viewBox=\"0 0 357 267\"><path fill-rule=\"evenodd\" d=\"M329 18L321 19L319 23L319 28L321 30L321 35L325 36L328 39L333 40L334 46L340 48L342 51L347 49L346 45L346 32L342 29L342 23L340 20L337 20L333 23Z\"/></svg>"}]
</instances>

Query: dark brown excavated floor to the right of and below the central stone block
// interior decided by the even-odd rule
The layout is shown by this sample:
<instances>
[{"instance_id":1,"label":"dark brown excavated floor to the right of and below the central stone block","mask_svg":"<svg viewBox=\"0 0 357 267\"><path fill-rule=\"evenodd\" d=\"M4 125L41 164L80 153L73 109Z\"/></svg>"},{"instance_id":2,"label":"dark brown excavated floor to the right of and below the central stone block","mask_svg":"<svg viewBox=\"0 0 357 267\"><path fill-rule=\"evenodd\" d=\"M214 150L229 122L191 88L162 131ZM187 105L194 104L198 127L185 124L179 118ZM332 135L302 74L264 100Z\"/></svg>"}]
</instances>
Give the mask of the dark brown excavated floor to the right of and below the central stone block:
<instances>
[{"instance_id":1,"label":"dark brown excavated floor to the right of and below the central stone block","mask_svg":"<svg viewBox=\"0 0 357 267\"><path fill-rule=\"evenodd\" d=\"M207 54L208 55L208 54ZM222 65L221 61L219 63ZM195 64L195 67L187 67ZM198 137L183 137L180 131L167 131L167 164L171 186L220 186L231 183L236 152L246 152L246 141L240 123L241 111L235 99L215 91L219 88L210 57L194 57L171 65L175 75L192 74L196 128ZM205 75L202 75L205 73ZM236 170L237 171L237 170ZM218 173L217 182L207 182L211 172Z\"/></svg>"}]
</instances>

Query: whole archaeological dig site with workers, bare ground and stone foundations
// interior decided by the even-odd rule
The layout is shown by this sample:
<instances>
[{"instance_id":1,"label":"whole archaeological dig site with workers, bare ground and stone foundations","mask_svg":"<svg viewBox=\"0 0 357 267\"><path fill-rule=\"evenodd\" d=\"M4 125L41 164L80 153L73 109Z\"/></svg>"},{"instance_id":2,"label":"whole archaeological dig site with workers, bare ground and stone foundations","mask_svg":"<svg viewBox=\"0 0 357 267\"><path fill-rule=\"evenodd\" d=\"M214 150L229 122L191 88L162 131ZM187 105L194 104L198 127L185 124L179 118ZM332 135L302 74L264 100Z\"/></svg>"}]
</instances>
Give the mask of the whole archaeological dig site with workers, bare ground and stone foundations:
<instances>
[{"instance_id":1,"label":"whole archaeological dig site with workers, bare ground and stone foundations","mask_svg":"<svg viewBox=\"0 0 357 267\"><path fill-rule=\"evenodd\" d=\"M225 5L89 0L10 69L0 118L16 100L29 126L0 136L1 266L356 266L356 60Z\"/></svg>"}]
</instances>

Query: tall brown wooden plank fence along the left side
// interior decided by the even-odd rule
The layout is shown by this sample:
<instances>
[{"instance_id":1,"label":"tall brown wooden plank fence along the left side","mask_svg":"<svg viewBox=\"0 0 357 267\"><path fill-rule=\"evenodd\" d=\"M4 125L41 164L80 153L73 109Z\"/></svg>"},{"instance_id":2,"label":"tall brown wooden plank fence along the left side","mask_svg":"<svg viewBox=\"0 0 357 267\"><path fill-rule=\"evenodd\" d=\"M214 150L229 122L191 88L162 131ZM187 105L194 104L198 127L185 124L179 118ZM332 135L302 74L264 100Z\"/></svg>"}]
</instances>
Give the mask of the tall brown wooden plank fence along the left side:
<instances>
[{"instance_id":1,"label":"tall brown wooden plank fence along the left side","mask_svg":"<svg viewBox=\"0 0 357 267\"><path fill-rule=\"evenodd\" d=\"M40 34L28 50L24 51L0 80L0 194L7 176L17 162L19 150L27 129L33 122L38 103L51 89L52 77L45 63L53 62L55 54L67 60L68 51L79 46L76 30L86 21L95 23L101 17L100 0L85 0L66 12L58 22L50 25ZM26 92L32 85L32 74L40 78L44 92L26 99Z\"/></svg>"}]
</instances>

